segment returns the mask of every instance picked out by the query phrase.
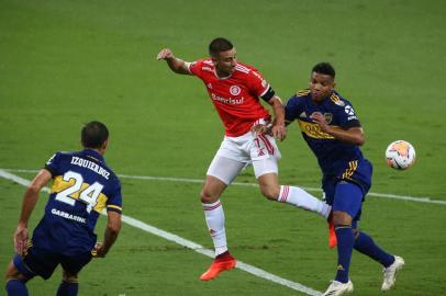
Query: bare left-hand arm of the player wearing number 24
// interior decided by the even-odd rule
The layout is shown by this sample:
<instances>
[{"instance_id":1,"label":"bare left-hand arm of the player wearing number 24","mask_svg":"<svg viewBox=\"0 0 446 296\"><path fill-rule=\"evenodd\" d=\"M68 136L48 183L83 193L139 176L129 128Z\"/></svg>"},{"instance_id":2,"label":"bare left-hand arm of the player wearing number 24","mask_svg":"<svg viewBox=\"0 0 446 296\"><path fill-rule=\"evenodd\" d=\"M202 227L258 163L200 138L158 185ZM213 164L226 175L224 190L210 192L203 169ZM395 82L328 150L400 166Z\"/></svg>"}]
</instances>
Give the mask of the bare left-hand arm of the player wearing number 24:
<instances>
[{"instance_id":1,"label":"bare left-hand arm of the player wearing number 24","mask_svg":"<svg viewBox=\"0 0 446 296\"><path fill-rule=\"evenodd\" d=\"M14 249L20 255L26 250L27 242L27 221L38 200L38 193L42 187L52 179L49 171L42 169L31 181L25 194L23 195L22 210L20 213L19 224L14 232Z\"/></svg>"}]
</instances>

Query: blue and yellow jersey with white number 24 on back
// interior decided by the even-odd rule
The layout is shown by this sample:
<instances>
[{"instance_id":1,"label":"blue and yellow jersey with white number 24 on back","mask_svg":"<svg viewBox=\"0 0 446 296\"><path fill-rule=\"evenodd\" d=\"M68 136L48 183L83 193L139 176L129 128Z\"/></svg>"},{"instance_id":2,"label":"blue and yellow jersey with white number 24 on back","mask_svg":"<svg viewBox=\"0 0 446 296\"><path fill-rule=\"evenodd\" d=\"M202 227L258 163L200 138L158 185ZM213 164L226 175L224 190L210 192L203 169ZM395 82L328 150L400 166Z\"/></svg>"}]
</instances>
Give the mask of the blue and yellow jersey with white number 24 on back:
<instances>
[{"instance_id":1,"label":"blue and yellow jersey with white number 24 on back","mask_svg":"<svg viewBox=\"0 0 446 296\"><path fill-rule=\"evenodd\" d=\"M53 175L53 186L45 215L34 229L33 247L66 255L90 251L100 212L122 212L118 177L92 149L56 152L45 169Z\"/></svg>"}]
</instances>

